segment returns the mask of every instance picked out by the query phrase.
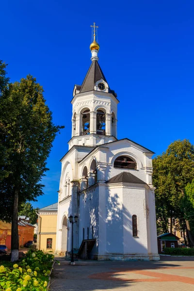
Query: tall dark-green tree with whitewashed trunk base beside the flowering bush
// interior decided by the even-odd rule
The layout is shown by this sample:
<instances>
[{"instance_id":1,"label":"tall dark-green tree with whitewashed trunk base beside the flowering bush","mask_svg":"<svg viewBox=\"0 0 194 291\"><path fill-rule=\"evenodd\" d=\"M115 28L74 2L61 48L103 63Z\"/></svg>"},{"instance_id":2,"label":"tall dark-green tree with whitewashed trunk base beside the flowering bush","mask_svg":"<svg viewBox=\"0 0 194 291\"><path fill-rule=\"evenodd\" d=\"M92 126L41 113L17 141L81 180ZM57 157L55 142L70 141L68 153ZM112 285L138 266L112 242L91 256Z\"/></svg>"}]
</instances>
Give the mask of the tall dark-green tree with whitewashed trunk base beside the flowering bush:
<instances>
[{"instance_id":1,"label":"tall dark-green tree with whitewashed trunk base beside the flowering bush","mask_svg":"<svg viewBox=\"0 0 194 291\"><path fill-rule=\"evenodd\" d=\"M1 77L5 68L1 65ZM43 194L41 178L52 142L62 127L52 122L43 88L28 75L0 95L0 219L12 221L12 261L18 259L18 205ZM3 173L6 173L3 174ZM3 175L2 175L3 174Z\"/></svg>"}]
</instances>

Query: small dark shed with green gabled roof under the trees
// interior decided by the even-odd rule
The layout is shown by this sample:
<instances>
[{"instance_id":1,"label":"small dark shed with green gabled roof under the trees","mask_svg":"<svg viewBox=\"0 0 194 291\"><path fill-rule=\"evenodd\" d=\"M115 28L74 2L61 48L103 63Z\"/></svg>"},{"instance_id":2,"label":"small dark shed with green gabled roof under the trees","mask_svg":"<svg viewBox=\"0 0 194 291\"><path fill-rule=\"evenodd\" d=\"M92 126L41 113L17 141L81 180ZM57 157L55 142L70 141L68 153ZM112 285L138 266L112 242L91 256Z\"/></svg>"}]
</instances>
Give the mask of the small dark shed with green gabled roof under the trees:
<instances>
[{"instance_id":1,"label":"small dark shed with green gabled roof under the trees","mask_svg":"<svg viewBox=\"0 0 194 291\"><path fill-rule=\"evenodd\" d=\"M158 253L162 254L164 247L178 247L179 238L174 233L163 233L158 236Z\"/></svg>"}]
</instances>

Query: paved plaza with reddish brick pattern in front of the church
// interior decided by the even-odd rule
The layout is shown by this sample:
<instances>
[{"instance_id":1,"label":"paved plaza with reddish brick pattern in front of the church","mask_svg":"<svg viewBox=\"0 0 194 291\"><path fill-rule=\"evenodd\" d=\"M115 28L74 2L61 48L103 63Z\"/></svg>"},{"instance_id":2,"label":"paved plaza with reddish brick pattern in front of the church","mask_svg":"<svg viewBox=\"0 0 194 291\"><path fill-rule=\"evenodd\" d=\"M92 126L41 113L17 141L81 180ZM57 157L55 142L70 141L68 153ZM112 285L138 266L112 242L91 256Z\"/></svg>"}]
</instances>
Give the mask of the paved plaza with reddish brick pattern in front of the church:
<instances>
[{"instance_id":1,"label":"paved plaza with reddish brick pattern in front of the church","mask_svg":"<svg viewBox=\"0 0 194 291\"><path fill-rule=\"evenodd\" d=\"M50 291L194 291L194 258L161 261L78 261L60 259Z\"/></svg>"}]
</instances>

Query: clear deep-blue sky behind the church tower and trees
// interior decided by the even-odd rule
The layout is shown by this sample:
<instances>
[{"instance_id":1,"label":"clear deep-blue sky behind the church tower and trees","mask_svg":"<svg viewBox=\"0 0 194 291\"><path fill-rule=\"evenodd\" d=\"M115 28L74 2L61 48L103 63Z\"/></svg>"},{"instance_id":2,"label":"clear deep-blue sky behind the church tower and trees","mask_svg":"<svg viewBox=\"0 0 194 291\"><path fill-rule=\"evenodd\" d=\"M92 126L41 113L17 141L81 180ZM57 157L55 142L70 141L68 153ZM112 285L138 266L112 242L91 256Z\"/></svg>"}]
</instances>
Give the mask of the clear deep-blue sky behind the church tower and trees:
<instances>
[{"instance_id":1,"label":"clear deep-blue sky behind the church tower and trees","mask_svg":"<svg viewBox=\"0 0 194 291\"><path fill-rule=\"evenodd\" d=\"M99 64L115 90L118 138L161 154L177 139L194 144L193 0L1 1L0 59L11 81L31 74L55 124L65 125L48 160L45 195L57 202L59 160L71 138L72 91L91 64L90 25L99 26Z\"/></svg>"}]
</instances>

